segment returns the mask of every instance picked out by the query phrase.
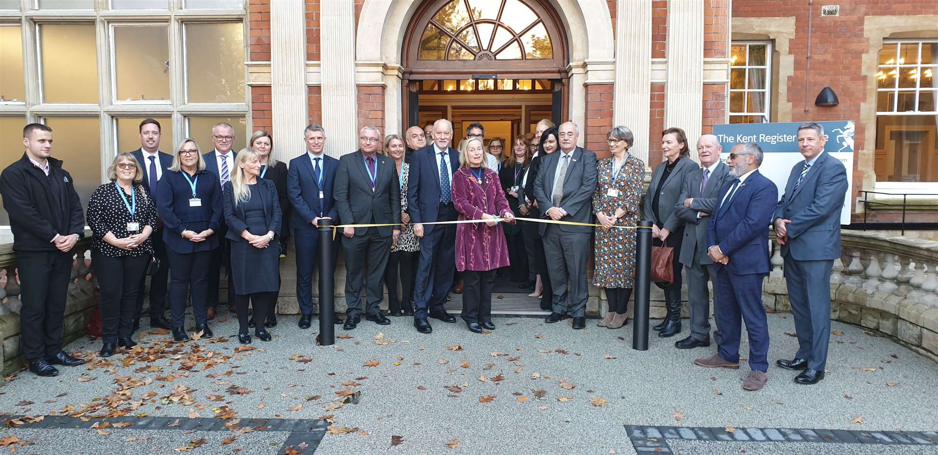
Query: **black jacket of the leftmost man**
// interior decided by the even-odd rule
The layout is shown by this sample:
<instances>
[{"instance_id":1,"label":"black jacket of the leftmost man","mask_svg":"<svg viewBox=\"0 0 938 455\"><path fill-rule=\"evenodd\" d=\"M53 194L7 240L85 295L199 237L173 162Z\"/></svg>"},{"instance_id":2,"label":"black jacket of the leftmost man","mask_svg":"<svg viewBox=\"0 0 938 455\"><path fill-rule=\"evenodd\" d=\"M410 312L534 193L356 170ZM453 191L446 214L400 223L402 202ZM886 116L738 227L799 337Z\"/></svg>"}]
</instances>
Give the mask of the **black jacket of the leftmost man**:
<instances>
[{"instance_id":1,"label":"black jacket of the leftmost man","mask_svg":"<svg viewBox=\"0 0 938 455\"><path fill-rule=\"evenodd\" d=\"M14 251L57 251L55 234L84 236L82 201L62 161L49 161L49 177L23 153L0 174L0 195L9 214ZM55 207L55 192L60 207Z\"/></svg>"}]
</instances>

